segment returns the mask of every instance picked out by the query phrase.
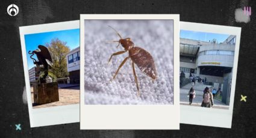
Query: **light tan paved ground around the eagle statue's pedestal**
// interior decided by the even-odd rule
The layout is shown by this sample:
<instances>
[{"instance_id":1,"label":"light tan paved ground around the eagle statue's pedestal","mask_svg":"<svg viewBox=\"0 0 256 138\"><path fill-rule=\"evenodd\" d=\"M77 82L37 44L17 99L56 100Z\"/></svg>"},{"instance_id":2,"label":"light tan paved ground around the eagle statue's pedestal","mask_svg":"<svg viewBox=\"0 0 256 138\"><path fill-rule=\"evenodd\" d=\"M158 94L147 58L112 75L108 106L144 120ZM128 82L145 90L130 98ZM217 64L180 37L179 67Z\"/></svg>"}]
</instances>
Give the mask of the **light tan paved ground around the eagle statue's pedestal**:
<instances>
[{"instance_id":1,"label":"light tan paved ground around the eagle statue's pedestal","mask_svg":"<svg viewBox=\"0 0 256 138\"><path fill-rule=\"evenodd\" d=\"M34 103L33 97L33 87L31 89L32 103ZM43 107L53 107L53 106L65 106L69 104L79 104L80 103L80 86L69 87L69 88L59 88L58 89L59 101L55 101L48 104L42 104L38 106L33 106L33 109L43 108Z\"/></svg>"}]
</instances>

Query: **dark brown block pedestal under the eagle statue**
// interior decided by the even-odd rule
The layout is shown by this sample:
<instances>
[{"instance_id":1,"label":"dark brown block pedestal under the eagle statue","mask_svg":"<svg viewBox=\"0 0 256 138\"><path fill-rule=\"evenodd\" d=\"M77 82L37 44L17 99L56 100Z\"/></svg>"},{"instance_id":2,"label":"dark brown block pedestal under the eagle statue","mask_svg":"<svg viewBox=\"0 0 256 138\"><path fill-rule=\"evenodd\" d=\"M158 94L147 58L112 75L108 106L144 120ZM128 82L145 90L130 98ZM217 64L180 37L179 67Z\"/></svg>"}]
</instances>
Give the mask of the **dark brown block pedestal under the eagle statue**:
<instances>
[{"instance_id":1,"label":"dark brown block pedestal under the eagle statue","mask_svg":"<svg viewBox=\"0 0 256 138\"><path fill-rule=\"evenodd\" d=\"M40 83L33 85L34 103L46 104L59 101L58 82Z\"/></svg>"}]
</instances>

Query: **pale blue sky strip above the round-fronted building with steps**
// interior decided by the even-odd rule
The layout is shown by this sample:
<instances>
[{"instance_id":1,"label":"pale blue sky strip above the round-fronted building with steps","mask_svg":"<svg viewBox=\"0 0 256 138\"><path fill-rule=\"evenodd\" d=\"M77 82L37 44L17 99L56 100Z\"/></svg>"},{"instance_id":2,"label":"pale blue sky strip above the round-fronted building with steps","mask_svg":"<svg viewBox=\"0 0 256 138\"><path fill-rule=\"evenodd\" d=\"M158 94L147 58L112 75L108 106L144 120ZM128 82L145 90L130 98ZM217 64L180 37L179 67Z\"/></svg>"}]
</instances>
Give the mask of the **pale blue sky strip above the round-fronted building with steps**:
<instances>
[{"instance_id":1,"label":"pale blue sky strip above the round-fronted building with steps","mask_svg":"<svg viewBox=\"0 0 256 138\"><path fill-rule=\"evenodd\" d=\"M181 30L180 32L180 38L201 40L201 41L207 41L207 42L215 38L218 43L222 43L228 37L229 37L228 34L214 34L209 32L196 32L196 31L186 31L186 30Z\"/></svg>"}]
</instances>

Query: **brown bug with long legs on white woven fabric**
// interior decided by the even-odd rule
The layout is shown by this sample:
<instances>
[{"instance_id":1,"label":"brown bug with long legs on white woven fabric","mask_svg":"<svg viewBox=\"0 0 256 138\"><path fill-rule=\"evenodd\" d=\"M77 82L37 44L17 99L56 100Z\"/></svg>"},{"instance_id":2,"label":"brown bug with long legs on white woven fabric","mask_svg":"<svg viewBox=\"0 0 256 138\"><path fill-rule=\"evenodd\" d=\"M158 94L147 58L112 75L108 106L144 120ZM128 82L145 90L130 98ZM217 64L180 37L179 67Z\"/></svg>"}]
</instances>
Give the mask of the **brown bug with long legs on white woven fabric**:
<instances>
[{"instance_id":1,"label":"brown bug with long legs on white woven fabric","mask_svg":"<svg viewBox=\"0 0 256 138\"><path fill-rule=\"evenodd\" d=\"M112 28L111 26L109 26L110 28ZM139 85L138 85L138 80L137 80L137 76L136 76L136 72L135 72L135 68L134 68L134 63L137 65L137 67L140 68L140 70L145 73L147 76L151 77L153 80L155 80L157 78L157 70L155 69L155 64L154 64L154 59L152 58L152 56L150 55L149 52L147 52L146 50L140 48L140 47L135 47L133 41L131 41L131 38L122 38L121 35L116 31L116 29L112 28L116 34L120 37L119 41L111 41L111 42L117 42L118 45L117 47L121 44L123 48L125 48L125 50L123 51L119 51L116 53L113 53L110 56L110 59L108 59L108 63L110 62L112 56L116 56L116 55L120 55L122 53L125 52L129 52L129 56L126 57L125 59L123 59L122 63L119 65L119 68L117 69L116 73L114 74L113 80L116 77L118 71L120 70L120 68L123 66L123 64L125 64L125 62L127 61L127 59L131 58L132 60L132 67L133 67L133 74L135 77L135 82L137 85L137 95L140 95L139 92Z\"/></svg>"}]
</instances>

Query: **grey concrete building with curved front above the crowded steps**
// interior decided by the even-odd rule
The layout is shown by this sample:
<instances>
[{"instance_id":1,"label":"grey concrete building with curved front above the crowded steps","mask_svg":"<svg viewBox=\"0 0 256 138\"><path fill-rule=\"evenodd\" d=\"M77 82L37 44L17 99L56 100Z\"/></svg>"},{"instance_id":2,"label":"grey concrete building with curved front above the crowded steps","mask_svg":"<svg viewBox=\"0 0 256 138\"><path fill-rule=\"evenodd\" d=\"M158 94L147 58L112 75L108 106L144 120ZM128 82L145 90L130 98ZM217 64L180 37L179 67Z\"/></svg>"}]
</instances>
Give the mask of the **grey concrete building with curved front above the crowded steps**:
<instances>
[{"instance_id":1,"label":"grey concrete building with curved front above the crowded steps","mask_svg":"<svg viewBox=\"0 0 256 138\"><path fill-rule=\"evenodd\" d=\"M222 102L229 104L234 63L236 36L230 35L222 43L180 38L180 72L186 78L190 73L198 78L207 78L207 84L221 88Z\"/></svg>"}]
</instances>

